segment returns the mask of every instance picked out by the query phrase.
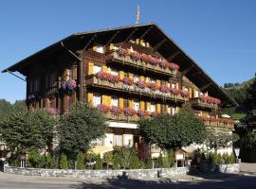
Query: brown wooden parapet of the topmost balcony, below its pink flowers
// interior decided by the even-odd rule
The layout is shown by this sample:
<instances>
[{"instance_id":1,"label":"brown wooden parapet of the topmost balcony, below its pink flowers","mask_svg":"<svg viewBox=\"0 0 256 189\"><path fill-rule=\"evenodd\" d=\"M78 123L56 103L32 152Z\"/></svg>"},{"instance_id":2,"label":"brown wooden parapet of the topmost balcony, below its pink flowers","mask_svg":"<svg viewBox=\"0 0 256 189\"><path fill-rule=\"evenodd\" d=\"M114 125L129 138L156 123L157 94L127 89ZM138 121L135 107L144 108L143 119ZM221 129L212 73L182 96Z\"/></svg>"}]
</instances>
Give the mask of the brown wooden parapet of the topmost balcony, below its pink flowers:
<instances>
[{"instance_id":1,"label":"brown wooden parapet of the topmost balcony, below its pink flowers","mask_svg":"<svg viewBox=\"0 0 256 189\"><path fill-rule=\"evenodd\" d=\"M133 60L130 56L120 57L116 51L109 51L109 54L106 55L106 62L137 67L137 69L140 70L147 70L157 74L165 74L169 77L175 77L177 74L176 70L161 68L159 65L152 65L150 63L146 63L143 60Z\"/></svg>"}]
</instances>

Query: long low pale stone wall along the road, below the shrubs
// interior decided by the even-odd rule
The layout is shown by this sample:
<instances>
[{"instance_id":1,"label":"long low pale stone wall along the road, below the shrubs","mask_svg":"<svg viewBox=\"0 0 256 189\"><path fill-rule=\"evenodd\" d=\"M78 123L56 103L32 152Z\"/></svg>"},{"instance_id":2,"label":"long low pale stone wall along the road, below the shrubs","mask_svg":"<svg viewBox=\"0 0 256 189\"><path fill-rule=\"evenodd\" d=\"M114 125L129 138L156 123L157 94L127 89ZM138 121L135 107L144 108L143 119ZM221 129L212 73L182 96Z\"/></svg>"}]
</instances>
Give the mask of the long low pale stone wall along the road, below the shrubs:
<instances>
[{"instance_id":1,"label":"long low pale stone wall along the road, below the shrubs","mask_svg":"<svg viewBox=\"0 0 256 189\"><path fill-rule=\"evenodd\" d=\"M133 170L73 170L73 169L40 169L40 168L20 168L5 166L5 173L25 176L43 177L65 177L80 179L149 179L165 178L174 175L186 175L188 167L177 168L155 168L155 169L133 169Z\"/></svg>"}]
</instances>

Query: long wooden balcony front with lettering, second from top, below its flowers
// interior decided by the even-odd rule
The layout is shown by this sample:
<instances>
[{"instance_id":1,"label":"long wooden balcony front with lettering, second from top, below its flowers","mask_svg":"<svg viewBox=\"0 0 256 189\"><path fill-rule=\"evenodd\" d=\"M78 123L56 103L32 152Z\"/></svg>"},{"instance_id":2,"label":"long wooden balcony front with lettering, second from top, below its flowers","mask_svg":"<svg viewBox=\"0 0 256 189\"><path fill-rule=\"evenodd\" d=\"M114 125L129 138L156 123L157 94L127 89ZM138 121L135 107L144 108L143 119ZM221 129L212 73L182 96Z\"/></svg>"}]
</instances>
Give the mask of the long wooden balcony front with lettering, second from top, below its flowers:
<instances>
[{"instance_id":1,"label":"long wooden balcony front with lettering, second from top, below its flowers","mask_svg":"<svg viewBox=\"0 0 256 189\"><path fill-rule=\"evenodd\" d=\"M118 92L127 92L129 94L138 94L138 95L144 95L149 97L154 96L155 98L172 100L176 102L189 101L188 97L183 97L181 94L174 95L171 93L163 93L163 92L160 92L159 90L154 91L147 87L145 89L141 89L141 88L138 88L137 85L135 84L127 85L127 84L124 84L122 81L119 81L118 83L111 83L107 80L100 79L95 75L86 77L86 86L104 88L107 90L114 90Z\"/></svg>"}]
</instances>

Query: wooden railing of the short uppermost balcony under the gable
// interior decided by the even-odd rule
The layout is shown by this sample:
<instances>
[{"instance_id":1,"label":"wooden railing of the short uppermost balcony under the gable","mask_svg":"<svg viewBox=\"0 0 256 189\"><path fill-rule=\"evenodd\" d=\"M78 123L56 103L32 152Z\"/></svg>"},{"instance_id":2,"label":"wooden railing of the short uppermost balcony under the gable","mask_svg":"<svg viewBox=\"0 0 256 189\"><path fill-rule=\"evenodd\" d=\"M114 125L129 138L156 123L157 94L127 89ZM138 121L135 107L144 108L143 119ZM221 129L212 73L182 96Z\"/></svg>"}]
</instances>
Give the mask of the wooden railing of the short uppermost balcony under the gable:
<instances>
[{"instance_id":1,"label":"wooden railing of the short uppermost balcony under the gable","mask_svg":"<svg viewBox=\"0 0 256 189\"><path fill-rule=\"evenodd\" d=\"M149 55L146 55L146 56L149 56ZM113 61L119 62L120 64L123 64L123 65L130 65L130 66L137 67L139 69L155 72L158 74L166 74L168 76L173 76L173 77L175 77L177 74L176 67L174 69L174 67L165 66L164 64L161 64L161 63L156 63L156 64L150 63L151 62L150 60L146 61L143 59L137 59L133 55L129 55L129 54L120 56L117 50L110 51L109 54L106 56L106 62L113 62ZM176 64L174 65L177 66Z\"/></svg>"}]
</instances>

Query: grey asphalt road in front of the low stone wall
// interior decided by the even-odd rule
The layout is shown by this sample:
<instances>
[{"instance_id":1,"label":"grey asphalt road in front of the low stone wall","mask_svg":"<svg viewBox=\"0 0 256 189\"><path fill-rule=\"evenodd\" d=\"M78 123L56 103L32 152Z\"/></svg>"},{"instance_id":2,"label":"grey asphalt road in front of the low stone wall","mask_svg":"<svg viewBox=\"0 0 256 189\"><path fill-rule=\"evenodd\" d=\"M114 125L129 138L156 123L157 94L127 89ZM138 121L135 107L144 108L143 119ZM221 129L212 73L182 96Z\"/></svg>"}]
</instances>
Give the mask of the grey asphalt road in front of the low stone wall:
<instances>
[{"instance_id":1,"label":"grey asphalt road in front of the low stone wall","mask_svg":"<svg viewBox=\"0 0 256 189\"><path fill-rule=\"evenodd\" d=\"M190 188L190 189L255 189L256 176L228 176L221 178L184 177L160 180L75 180L44 178L0 173L2 189L46 189L46 188Z\"/></svg>"}]
</instances>

